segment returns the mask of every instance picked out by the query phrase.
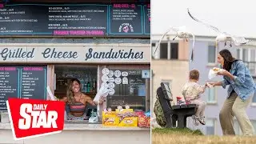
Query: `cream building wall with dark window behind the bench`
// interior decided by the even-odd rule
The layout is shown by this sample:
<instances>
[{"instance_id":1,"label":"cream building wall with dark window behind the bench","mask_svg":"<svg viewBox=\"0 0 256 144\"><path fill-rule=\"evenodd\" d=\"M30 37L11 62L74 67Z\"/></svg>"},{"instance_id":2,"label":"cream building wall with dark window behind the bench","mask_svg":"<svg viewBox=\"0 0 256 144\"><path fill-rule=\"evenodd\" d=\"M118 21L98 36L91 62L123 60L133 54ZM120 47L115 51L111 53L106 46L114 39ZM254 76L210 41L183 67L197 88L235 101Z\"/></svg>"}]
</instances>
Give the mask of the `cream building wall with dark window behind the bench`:
<instances>
[{"instance_id":1,"label":"cream building wall with dark window behind the bench","mask_svg":"<svg viewBox=\"0 0 256 144\"><path fill-rule=\"evenodd\" d=\"M152 35L152 43L158 44L159 39L162 35ZM174 102L177 101L176 97L182 95L182 86L186 83L188 78L189 62L188 62L188 53L189 53L189 42L183 39L176 39L173 35L167 35L162 39L162 42L178 42L178 59L159 59L160 49L155 55L155 47L152 46L152 56L155 56L151 61L151 70L152 70L152 90L151 90L151 110L154 110L154 102L156 101L156 91L160 86L162 81L170 82L170 89L174 96ZM169 45L170 46L170 45ZM170 47L171 48L171 47ZM155 118L154 112L152 112L153 118Z\"/></svg>"}]
</instances>

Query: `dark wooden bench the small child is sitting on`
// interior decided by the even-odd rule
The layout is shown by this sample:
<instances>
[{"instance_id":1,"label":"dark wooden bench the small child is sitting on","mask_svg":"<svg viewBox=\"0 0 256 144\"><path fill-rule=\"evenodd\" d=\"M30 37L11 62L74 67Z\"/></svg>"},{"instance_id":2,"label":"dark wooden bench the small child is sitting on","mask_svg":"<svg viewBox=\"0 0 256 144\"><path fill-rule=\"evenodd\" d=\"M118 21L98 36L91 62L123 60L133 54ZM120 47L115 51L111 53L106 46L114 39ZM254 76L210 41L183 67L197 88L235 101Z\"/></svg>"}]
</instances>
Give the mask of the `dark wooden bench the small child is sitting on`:
<instances>
[{"instance_id":1,"label":"dark wooden bench the small child is sitting on","mask_svg":"<svg viewBox=\"0 0 256 144\"><path fill-rule=\"evenodd\" d=\"M158 100L162 106L164 116L166 118L166 128L177 127L176 122L178 121L178 128L186 127L186 118L193 116L196 112L197 105L186 104L186 105L174 105L171 106L170 102L173 101L172 94L169 86L161 82L161 86L157 90Z\"/></svg>"}]
</instances>

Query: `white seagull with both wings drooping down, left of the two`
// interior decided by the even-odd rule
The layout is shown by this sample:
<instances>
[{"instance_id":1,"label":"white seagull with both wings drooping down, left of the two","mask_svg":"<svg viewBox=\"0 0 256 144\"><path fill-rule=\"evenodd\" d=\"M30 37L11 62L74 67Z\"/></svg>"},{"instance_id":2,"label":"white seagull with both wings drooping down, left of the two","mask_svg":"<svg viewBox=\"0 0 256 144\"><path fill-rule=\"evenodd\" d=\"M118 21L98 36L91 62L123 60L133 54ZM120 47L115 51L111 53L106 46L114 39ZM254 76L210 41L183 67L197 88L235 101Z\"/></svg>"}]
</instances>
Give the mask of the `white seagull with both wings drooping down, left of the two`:
<instances>
[{"instance_id":1,"label":"white seagull with both wings drooping down, left of the two","mask_svg":"<svg viewBox=\"0 0 256 144\"><path fill-rule=\"evenodd\" d=\"M162 34L162 38L160 38L159 42L158 42L158 46L160 46L162 39L166 36L166 34L168 32L170 32L170 30L173 30L174 32L176 32L176 36L173 38L173 41L175 40L175 38L182 38L182 39L186 39L186 42L188 42L188 38L190 37L190 35L193 36L194 39L194 34L190 33L187 29L186 26L179 26L179 27L171 27L169 30L166 30L166 32L164 34ZM154 50L154 54L155 52L158 50L158 46L156 46L155 50ZM193 62L194 59L194 41L193 41L193 47L192 47L192 53L191 53L191 57L190 57L190 62Z\"/></svg>"}]
</instances>

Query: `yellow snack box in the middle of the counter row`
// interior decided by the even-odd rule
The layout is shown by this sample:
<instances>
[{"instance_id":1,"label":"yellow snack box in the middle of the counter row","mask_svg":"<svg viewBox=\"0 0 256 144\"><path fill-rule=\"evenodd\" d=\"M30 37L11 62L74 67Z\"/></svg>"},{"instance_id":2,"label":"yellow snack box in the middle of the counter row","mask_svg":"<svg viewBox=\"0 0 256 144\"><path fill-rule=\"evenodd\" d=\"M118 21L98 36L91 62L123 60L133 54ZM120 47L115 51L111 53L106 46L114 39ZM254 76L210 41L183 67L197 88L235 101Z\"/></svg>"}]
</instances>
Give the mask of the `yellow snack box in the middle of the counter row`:
<instances>
[{"instance_id":1,"label":"yellow snack box in the middle of the counter row","mask_svg":"<svg viewBox=\"0 0 256 144\"><path fill-rule=\"evenodd\" d=\"M134 112L133 109L122 109L122 110L116 110L117 114L125 114L125 113L132 113ZM122 117L118 117L119 119L119 123L118 123L118 126L121 126L121 127L137 127L138 126L138 117L125 117L125 118L122 118Z\"/></svg>"}]
</instances>

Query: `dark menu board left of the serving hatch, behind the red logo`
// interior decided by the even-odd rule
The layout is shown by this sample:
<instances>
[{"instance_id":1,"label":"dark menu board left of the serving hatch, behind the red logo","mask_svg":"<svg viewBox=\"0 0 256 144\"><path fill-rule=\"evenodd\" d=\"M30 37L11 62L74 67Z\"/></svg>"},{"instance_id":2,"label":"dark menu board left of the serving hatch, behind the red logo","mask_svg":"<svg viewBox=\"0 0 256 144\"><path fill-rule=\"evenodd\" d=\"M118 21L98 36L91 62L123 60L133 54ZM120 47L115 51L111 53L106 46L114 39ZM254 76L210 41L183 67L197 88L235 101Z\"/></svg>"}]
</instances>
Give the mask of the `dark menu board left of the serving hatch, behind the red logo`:
<instances>
[{"instance_id":1,"label":"dark menu board left of the serving hatch, behind the red logo","mask_svg":"<svg viewBox=\"0 0 256 144\"><path fill-rule=\"evenodd\" d=\"M8 98L46 99L46 66L0 66L0 110Z\"/></svg>"}]
</instances>

